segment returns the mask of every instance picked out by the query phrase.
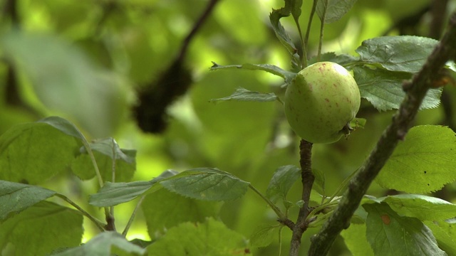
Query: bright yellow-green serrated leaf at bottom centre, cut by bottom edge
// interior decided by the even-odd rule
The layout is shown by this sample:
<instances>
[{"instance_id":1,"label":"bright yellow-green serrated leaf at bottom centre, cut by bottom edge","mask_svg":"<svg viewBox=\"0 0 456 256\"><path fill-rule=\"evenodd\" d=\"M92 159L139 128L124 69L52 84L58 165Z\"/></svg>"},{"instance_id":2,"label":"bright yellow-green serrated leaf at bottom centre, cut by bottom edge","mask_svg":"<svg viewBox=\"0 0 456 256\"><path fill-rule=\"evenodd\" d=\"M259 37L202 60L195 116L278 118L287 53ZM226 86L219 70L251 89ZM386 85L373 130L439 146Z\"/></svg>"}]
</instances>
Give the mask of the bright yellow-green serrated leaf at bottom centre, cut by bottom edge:
<instances>
[{"instance_id":1,"label":"bright yellow-green serrated leaf at bottom centre, cut by bottom edge","mask_svg":"<svg viewBox=\"0 0 456 256\"><path fill-rule=\"evenodd\" d=\"M212 218L204 223L182 223L170 228L164 237L147 247L147 252L150 256L251 255L242 235Z\"/></svg>"}]
</instances>

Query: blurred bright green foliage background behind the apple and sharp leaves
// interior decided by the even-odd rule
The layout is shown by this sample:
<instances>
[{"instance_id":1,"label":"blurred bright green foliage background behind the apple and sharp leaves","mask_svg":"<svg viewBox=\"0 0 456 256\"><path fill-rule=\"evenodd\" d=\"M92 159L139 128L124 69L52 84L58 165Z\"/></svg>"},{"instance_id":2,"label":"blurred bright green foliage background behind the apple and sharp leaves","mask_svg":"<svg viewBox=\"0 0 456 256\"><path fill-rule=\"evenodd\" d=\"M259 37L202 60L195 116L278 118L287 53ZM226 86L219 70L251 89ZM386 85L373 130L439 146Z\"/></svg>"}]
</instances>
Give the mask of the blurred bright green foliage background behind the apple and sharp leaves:
<instances>
[{"instance_id":1,"label":"blurred bright green foliage background behind the apple and sharp leaves","mask_svg":"<svg viewBox=\"0 0 456 256\"><path fill-rule=\"evenodd\" d=\"M221 65L270 63L289 68L289 56L276 39L268 16L272 8L283 6L283 1L219 1L190 41L182 67L168 70L171 75L167 79L162 74L178 58L185 37L209 0L0 3L0 134L14 124L50 115L64 117L90 139L114 137L121 147L138 150L134 180L150 180L166 169L183 171L207 166L229 171L265 191L279 166L299 165L299 138L286 124L279 103L209 102L230 95L237 87L284 94L280 87L283 80L273 75L244 70L209 72L211 61ZM323 52L356 55L354 50L363 40L383 35L439 38L455 7L456 1L452 0L359 0L341 21L326 25ZM303 28L310 8L311 1L305 0ZM297 40L292 19L284 18L283 22ZM310 55L316 54L318 31L315 18ZM142 132L135 110L140 99L147 106L155 98L147 100L140 93L168 87L168 93L173 94L173 90L182 90L172 87L180 83L188 84L182 95L161 106L166 112L162 129L152 134ZM441 106L420 112L416 124L444 124L454 129L455 96L455 87L445 87ZM365 129L356 130L348 140L314 146L313 166L326 176L326 193L333 192L362 164L393 113L379 113L368 102L362 102L358 117L367 119ZM88 194L97 189L95 181L79 181L68 174L40 185L66 193L103 218L100 210L86 203ZM299 201L300 189L296 183L289 193L290 201ZM369 191L375 196L390 192L375 184ZM439 196L455 201L454 192L450 185ZM118 206L118 226L126 224L134 207L135 202ZM251 192L218 207L219 218L246 238L257 225L275 223L274 213ZM88 221L86 225L89 239L95 229ZM314 233L316 230L304 233L303 251ZM289 230L283 232L284 252L290 234ZM150 236L144 215L139 215L128 238ZM277 255L278 238L274 241L270 247L252 248L252 252ZM344 251L341 238L331 253L343 255Z\"/></svg>"}]
</instances>

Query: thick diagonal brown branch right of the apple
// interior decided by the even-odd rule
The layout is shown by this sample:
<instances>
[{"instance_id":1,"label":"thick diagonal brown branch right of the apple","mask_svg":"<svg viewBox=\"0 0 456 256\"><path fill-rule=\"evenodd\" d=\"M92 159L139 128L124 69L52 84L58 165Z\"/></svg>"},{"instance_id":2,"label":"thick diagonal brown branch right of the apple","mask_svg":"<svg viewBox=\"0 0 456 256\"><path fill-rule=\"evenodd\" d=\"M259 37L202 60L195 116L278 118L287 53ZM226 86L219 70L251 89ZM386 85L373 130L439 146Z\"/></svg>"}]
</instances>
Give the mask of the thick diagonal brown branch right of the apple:
<instances>
[{"instance_id":1,"label":"thick diagonal brown branch right of the apple","mask_svg":"<svg viewBox=\"0 0 456 256\"><path fill-rule=\"evenodd\" d=\"M423 97L430 87L432 80L447 60L456 56L456 13L450 18L450 26L443 36L442 41L431 53L420 72L413 77L412 82L404 85L405 99L398 112L393 117L393 122L385 129L375 149L351 180L348 190L338 204L333 215L324 223L321 230L311 239L309 255L326 255L329 248L339 233L350 225L351 216L358 208L368 187L375 176L378 175L385 162L393 153L395 146L410 129L410 123L415 118Z\"/></svg>"}]
</instances>

